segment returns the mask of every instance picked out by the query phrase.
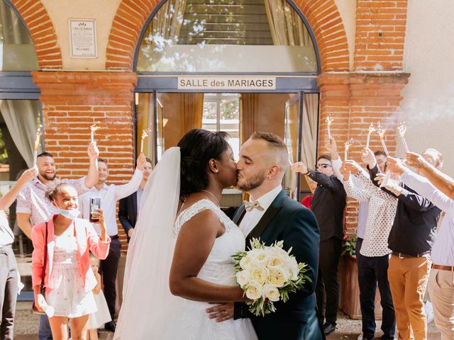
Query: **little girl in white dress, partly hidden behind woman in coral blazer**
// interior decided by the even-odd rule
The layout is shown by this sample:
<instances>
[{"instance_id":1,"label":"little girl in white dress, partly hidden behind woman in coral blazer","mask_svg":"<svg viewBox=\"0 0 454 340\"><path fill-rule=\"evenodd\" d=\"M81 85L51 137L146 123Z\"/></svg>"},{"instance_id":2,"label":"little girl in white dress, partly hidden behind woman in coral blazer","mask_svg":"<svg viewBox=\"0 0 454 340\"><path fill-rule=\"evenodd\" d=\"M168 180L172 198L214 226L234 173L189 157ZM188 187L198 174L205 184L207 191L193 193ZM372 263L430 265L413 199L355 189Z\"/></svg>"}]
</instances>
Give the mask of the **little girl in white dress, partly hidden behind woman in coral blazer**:
<instances>
[{"instance_id":1,"label":"little girl in white dress, partly hidden behind woman in coral blazer","mask_svg":"<svg viewBox=\"0 0 454 340\"><path fill-rule=\"evenodd\" d=\"M87 340L98 340L98 329L103 324L111 322L111 314L109 313L109 307L107 306L106 297L101 290L101 276L99 275L99 259L90 254L90 266L94 273L94 277L98 284L93 289L94 300L98 311L89 315L87 324Z\"/></svg>"}]
</instances>

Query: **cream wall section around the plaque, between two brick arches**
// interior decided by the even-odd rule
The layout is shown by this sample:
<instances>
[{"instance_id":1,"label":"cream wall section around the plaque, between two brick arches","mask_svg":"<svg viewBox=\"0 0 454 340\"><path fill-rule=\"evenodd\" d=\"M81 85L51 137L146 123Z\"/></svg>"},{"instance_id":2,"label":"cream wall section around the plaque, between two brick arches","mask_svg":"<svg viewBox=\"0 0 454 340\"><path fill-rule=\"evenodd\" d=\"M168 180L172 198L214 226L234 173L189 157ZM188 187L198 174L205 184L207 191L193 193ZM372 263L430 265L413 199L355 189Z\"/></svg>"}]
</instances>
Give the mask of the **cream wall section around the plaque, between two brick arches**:
<instances>
[{"instance_id":1,"label":"cream wall section around the plaque, between two brick arches","mask_svg":"<svg viewBox=\"0 0 454 340\"><path fill-rule=\"evenodd\" d=\"M102 70L106 67L106 48L112 22L121 0L41 0L55 28L62 50L63 69ZM68 19L95 19L98 57L72 58Z\"/></svg>"}]
</instances>

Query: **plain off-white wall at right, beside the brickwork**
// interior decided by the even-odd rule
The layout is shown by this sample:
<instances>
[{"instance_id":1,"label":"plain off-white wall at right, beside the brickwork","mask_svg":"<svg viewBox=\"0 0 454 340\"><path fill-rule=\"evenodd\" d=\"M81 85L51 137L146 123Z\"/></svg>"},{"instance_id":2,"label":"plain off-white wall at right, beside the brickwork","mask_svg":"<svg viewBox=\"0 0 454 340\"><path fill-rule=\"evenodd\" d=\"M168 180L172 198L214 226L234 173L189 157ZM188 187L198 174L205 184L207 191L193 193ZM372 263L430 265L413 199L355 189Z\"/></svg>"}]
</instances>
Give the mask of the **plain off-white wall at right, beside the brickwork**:
<instances>
[{"instance_id":1,"label":"plain off-white wall at right, beside the brickwork","mask_svg":"<svg viewBox=\"0 0 454 340\"><path fill-rule=\"evenodd\" d=\"M438 149L454 176L454 1L409 0L404 62L411 74L401 119L409 149ZM398 153L404 154L399 143Z\"/></svg>"}]
</instances>

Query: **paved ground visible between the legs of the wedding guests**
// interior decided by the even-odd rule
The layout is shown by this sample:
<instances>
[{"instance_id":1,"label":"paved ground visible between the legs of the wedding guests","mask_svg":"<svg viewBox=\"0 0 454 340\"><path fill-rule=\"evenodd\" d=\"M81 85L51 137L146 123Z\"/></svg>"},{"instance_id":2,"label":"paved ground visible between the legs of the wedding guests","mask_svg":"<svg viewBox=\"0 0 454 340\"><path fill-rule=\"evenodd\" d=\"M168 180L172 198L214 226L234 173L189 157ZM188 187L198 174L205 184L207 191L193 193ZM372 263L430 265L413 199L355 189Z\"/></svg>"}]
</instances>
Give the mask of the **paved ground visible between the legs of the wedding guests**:
<instances>
[{"instance_id":1,"label":"paved ground visible between the legs of the wedding guests","mask_svg":"<svg viewBox=\"0 0 454 340\"><path fill-rule=\"evenodd\" d=\"M31 302L18 302L16 310L16 324L14 327L15 340L36 340L38 339L39 315L33 314L30 310ZM377 321L377 329L380 331L381 322ZM339 312L338 328L327 340L353 340L358 338L361 331L361 320L352 320L343 312ZM100 340L111 340L113 333L100 331ZM380 339L381 332L377 332L377 339ZM429 324L428 340L439 340L438 333L433 322ZM145 340L145 339L144 339ZM309 339L308 339L309 340Z\"/></svg>"}]
</instances>

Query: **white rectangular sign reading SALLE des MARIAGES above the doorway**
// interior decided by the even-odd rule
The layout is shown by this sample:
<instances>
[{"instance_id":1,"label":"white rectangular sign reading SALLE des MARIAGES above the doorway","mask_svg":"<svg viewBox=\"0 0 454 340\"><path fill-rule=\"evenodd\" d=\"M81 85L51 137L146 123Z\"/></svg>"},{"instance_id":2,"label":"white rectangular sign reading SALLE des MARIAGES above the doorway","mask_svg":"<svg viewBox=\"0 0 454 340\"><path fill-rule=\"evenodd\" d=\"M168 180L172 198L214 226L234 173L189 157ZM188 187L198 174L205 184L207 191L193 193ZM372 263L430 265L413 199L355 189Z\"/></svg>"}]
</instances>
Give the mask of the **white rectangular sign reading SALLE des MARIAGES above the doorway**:
<instances>
[{"instance_id":1,"label":"white rectangular sign reading SALLE des MARIAGES above the doorway","mask_svg":"<svg viewBox=\"0 0 454 340\"><path fill-rule=\"evenodd\" d=\"M178 77L179 90L275 90L276 77Z\"/></svg>"}]
</instances>

